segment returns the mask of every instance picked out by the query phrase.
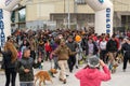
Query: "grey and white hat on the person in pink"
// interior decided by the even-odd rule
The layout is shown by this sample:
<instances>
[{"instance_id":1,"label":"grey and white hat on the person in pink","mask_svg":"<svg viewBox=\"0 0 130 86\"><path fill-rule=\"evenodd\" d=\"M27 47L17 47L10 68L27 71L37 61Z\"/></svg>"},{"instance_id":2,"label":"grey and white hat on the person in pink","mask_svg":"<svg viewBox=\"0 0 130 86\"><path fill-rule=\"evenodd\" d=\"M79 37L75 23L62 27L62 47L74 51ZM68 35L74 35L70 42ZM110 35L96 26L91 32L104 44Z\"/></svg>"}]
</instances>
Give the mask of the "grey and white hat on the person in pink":
<instances>
[{"instance_id":1,"label":"grey and white hat on the person in pink","mask_svg":"<svg viewBox=\"0 0 130 86\"><path fill-rule=\"evenodd\" d=\"M88 58L88 66L92 69L98 68L100 66L99 58L96 56Z\"/></svg>"}]
</instances>

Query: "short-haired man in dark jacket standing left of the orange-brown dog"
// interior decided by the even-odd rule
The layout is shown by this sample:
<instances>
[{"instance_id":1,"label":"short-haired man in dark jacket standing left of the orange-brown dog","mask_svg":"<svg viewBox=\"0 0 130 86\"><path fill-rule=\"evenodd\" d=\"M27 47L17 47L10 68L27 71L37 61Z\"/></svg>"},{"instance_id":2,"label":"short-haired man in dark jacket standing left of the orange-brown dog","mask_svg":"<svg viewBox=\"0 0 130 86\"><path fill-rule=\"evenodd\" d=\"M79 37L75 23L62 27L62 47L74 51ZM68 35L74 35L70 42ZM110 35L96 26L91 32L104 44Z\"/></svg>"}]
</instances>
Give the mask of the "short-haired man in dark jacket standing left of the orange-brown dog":
<instances>
[{"instance_id":1,"label":"short-haired man in dark jacket standing left of the orange-brown dog","mask_svg":"<svg viewBox=\"0 0 130 86\"><path fill-rule=\"evenodd\" d=\"M38 68L40 66L41 59L35 63L34 59L30 57L30 49L25 48L23 52L23 57L17 61L17 72L20 75L20 86L34 86L34 71L32 68Z\"/></svg>"}]
</instances>

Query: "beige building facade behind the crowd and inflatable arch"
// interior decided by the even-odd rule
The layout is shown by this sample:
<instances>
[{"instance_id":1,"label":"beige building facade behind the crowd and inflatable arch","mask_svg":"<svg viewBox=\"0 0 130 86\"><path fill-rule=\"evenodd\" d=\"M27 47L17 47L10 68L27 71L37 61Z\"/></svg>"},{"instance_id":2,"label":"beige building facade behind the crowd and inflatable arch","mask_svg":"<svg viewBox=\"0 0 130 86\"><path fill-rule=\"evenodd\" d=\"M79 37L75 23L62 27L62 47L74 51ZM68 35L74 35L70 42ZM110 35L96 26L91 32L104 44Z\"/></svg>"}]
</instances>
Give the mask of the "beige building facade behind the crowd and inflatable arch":
<instances>
[{"instance_id":1,"label":"beige building facade behind the crowd and inflatable arch","mask_svg":"<svg viewBox=\"0 0 130 86\"><path fill-rule=\"evenodd\" d=\"M114 27L130 27L130 0L112 0L114 4ZM94 11L87 4L86 0L23 0L21 2L25 8L25 22L21 23L18 18L16 23L18 28L36 24L35 28L43 28L46 22L56 25L56 28L94 27ZM15 15L20 12L15 12ZM43 24L44 23L44 24ZM38 24L41 24L37 27Z\"/></svg>"}]
</instances>

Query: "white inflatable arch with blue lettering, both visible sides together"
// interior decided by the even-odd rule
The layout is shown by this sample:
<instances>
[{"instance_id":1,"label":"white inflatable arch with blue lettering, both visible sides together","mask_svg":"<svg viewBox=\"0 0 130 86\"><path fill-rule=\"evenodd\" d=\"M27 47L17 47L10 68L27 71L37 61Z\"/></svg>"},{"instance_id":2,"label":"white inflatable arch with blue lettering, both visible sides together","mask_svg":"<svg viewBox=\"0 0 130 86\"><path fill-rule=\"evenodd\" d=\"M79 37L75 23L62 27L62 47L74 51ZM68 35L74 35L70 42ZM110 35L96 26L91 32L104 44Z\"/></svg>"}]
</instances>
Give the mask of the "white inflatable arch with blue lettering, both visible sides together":
<instances>
[{"instance_id":1,"label":"white inflatable arch with blue lettering, both visible sides together","mask_svg":"<svg viewBox=\"0 0 130 86\"><path fill-rule=\"evenodd\" d=\"M11 35L11 11L21 0L0 0L0 46ZM95 11L95 33L113 33L113 3L109 0L86 0Z\"/></svg>"}]
</instances>

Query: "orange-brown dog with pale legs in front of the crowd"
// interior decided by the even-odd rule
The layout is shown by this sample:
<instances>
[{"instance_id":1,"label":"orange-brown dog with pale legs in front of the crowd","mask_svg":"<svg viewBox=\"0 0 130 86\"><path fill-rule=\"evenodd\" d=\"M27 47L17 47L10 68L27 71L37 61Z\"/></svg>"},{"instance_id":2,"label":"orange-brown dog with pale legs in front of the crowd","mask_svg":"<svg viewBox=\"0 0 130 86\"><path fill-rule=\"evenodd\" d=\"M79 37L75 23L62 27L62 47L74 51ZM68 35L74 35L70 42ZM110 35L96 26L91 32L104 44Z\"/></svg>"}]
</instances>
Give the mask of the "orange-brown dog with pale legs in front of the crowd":
<instances>
[{"instance_id":1,"label":"orange-brown dog with pale legs in front of the crowd","mask_svg":"<svg viewBox=\"0 0 130 86\"><path fill-rule=\"evenodd\" d=\"M51 77L54 77L53 74L56 74L57 71L55 69L50 69L49 71L39 71L38 73L35 74L35 86L36 82L39 80L39 86L41 86L41 83L46 85L46 81L50 81L52 84Z\"/></svg>"}]
</instances>

